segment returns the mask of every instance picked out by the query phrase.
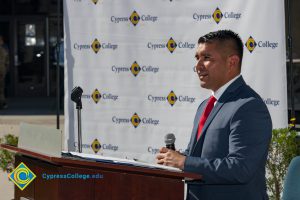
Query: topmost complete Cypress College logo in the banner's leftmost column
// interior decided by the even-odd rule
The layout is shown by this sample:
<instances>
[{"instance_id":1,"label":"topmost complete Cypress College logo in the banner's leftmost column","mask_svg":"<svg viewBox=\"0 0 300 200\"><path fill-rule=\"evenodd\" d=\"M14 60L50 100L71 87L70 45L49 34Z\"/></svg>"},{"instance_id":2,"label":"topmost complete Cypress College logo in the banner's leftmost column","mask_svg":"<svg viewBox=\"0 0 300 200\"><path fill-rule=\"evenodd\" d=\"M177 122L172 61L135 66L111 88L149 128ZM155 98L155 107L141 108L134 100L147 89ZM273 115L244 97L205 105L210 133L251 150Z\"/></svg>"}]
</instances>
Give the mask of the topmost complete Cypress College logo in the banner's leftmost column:
<instances>
[{"instance_id":1,"label":"topmost complete Cypress College logo in the banner's leftmost column","mask_svg":"<svg viewBox=\"0 0 300 200\"><path fill-rule=\"evenodd\" d=\"M95 38L91 44L86 43L78 43L75 42L73 44L73 48L77 51L90 51L92 50L95 54L97 54L100 50L116 50L118 48L117 44L113 44L111 42L100 42L97 38Z\"/></svg>"}]
</instances>

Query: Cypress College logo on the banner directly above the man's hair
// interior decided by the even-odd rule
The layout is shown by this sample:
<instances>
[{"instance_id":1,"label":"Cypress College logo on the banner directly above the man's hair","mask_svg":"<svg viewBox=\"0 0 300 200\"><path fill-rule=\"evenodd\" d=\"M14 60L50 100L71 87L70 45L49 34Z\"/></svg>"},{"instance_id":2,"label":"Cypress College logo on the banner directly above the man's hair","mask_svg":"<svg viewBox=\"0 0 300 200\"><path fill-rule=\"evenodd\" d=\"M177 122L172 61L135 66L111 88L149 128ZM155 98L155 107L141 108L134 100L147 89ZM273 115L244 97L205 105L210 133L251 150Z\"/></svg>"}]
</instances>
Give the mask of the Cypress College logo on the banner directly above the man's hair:
<instances>
[{"instance_id":1,"label":"Cypress College logo on the banner directly above the man's hair","mask_svg":"<svg viewBox=\"0 0 300 200\"><path fill-rule=\"evenodd\" d=\"M222 12L219 7L217 7L212 14L210 13L194 13L193 19L195 21L205 21L205 20L214 20L215 23L219 24L222 19L224 20L239 20L242 17L242 14L239 12L226 11Z\"/></svg>"}]
</instances>

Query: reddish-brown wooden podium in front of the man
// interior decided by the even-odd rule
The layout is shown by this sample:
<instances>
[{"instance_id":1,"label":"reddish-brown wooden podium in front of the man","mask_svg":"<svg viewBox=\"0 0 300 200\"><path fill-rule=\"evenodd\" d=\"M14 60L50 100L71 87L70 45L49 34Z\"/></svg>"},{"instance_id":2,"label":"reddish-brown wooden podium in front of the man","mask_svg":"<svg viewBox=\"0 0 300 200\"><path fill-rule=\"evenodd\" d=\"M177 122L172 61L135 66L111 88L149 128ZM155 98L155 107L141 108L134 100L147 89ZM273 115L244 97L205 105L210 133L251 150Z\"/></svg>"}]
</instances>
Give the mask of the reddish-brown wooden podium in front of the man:
<instances>
[{"instance_id":1,"label":"reddish-brown wooden podium in front of the man","mask_svg":"<svg viewBox=\"0 0 300 200\"><path fill-rule=\"evenodd\" d=\"M36 175L23 191L15 186L15 200L182 200L183 179L201 178L184 172L58 158L8 145L1 147L17 152L15 167L23 162ZM46 180L45 174L100 174L103 177Z\"/></svg>"}]
</instances>

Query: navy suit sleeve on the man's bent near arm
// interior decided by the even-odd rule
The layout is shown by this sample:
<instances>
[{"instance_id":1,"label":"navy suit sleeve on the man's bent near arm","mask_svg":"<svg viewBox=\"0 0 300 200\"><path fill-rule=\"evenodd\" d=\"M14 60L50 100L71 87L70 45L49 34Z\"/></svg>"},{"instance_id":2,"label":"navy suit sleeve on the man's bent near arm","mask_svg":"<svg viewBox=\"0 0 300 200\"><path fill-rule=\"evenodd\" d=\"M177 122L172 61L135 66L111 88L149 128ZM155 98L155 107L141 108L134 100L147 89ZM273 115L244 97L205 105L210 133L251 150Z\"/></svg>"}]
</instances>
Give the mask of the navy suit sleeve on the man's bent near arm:
<instances>
[{"instance_id":1,"label":"navy suit sleeve on the man's bent near arm","mask_svg":"<svg viewBox=\"0 0 300 200\"><path fill-rule=\"evenodd\" d=\"M206 184L241 184L264 168L272 135L265 104L258 99L248 101L232 115L229 126L228 155L209 159L187 156L184 171L201 174Z\"/></svg>"}]
</instances>

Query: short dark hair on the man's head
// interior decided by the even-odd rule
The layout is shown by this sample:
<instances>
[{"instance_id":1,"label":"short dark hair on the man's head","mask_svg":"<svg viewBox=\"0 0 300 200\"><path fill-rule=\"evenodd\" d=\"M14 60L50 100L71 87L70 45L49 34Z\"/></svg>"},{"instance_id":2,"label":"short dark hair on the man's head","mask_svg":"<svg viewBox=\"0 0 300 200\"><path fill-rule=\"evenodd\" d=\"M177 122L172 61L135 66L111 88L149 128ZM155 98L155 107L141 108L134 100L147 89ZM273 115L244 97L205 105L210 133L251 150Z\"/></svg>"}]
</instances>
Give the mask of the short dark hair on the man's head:
<instances>
[{"instance_id":1,"label":"short dark hair on the man's head","mask_svg":"<svg viewBox=\"0 0 300 200\"><path fill-rule=\"evenodd\" d=\"M211 43L215 41L219 41L219 42L232 41L234 48L237 52L237 55L240 57L242 63L243 42L237 33L231 30L218 30L215 32L210 32L206 35L201 36L198 40L198 44Z\"/></svg>"}]
</instances>

